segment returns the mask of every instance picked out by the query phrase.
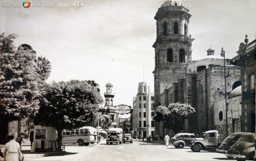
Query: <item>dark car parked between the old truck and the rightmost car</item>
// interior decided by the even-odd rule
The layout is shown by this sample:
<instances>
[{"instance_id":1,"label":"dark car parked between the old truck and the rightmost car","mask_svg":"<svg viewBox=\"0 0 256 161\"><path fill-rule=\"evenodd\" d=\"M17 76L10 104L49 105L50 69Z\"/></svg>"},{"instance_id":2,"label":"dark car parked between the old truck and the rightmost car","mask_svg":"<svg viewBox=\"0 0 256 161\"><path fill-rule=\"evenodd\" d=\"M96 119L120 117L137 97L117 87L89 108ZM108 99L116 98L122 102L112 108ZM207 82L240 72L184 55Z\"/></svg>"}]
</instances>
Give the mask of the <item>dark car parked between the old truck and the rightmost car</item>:
<instances>
[{"instance_id":1,"label":"dark car parked between the old truck and the rightmost car","mask_svg":"<svg viewBox=\"0 0 256 161\"><path fill-rule=\"evenodd\" d=\"M220 146L216 149L217 152L226 153L234 143L237 142L237 140L247 132L235 132L230 134L228 137L225 138L225 140L220 144ZM233 157L228 157L233 158Z\"/></svg>"}]
</instances>

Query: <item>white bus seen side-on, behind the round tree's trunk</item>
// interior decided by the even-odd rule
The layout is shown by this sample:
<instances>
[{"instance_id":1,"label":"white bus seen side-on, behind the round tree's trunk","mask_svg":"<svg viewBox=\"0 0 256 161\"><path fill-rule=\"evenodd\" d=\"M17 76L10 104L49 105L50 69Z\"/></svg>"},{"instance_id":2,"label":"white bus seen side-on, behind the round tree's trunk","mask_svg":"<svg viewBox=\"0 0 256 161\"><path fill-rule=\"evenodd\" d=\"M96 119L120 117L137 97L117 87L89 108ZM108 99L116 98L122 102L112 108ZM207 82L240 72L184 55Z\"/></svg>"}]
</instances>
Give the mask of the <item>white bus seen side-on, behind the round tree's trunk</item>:
<instances>
[{"instance_id":1,"label":"white bus seen side-on, behind the round tree's trunk","mask_svg":"<svg viewBox=\"0 0 256 161\"><path fill-rule=\"evenodd\" d=\"M90 143L97 143L96 129L85 126L74 130L63 130L62 143L78 143L79 146L88 146Z\"/></svg>"}]
</instances>

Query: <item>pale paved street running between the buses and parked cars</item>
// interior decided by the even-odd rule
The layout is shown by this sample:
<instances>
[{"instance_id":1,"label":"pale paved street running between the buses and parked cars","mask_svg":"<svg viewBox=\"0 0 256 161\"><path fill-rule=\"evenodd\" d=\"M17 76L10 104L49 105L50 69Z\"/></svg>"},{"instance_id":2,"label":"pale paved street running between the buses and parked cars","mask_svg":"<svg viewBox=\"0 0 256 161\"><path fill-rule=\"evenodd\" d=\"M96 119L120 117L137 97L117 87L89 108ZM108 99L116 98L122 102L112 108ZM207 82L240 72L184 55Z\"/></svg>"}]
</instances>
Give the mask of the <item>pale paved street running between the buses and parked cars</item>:
<instances>
[{"instance_id":1,"label":"pale paved street running between the buses and parked cars","mask_svg":"<svg viewBox=\"0 0 256 161\"><path fill-rule=\"evenodd\" d=\"M176 149L174 146L166 147L156 142L133 141L133 143L122 143L107 145L103 143L90 144L89 146L66 146L67 155L42 157L29 159L29 161L66 161L66 160L168 160L168 161L218 161L235 160L228 159L225 154L201 151L192 152L189 147ZM25 159L26 160L26 159Z\"/></svg>"}]
</instances>

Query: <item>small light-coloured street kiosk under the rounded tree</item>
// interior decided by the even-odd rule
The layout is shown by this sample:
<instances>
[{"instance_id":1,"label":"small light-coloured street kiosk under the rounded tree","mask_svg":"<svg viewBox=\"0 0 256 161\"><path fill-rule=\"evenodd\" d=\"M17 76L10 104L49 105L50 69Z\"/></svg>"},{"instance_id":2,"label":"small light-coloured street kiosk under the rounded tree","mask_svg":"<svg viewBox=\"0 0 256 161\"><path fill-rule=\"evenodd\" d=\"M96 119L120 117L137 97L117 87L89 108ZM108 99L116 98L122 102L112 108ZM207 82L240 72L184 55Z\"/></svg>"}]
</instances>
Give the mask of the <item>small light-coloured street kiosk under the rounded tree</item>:
<instances>
[{"instance_id":1,"label":"small light-coloured street kiosk under the rounded tree","mask_svg":"<svg viewBox=\"0 0 256 161\"><path fill-rule=\"evenodd\" d=\"M56 130L53 127L36 125L31 151L56 151Z\"/></svg>"}]
</instances>

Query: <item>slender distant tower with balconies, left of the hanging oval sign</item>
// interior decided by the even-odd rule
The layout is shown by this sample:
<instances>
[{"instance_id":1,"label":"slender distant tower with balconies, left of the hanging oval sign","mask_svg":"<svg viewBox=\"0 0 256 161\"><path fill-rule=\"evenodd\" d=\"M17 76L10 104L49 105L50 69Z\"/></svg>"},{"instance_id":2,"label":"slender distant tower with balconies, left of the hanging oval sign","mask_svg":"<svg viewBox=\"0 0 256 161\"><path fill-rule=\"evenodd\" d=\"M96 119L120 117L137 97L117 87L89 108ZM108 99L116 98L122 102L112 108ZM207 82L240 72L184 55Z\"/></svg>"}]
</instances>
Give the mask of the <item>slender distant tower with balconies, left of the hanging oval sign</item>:
<instances>
[{"instance_id":1,"label":"slender distant tower with balconies, left of the hanging oval sign","mask_svg":"<svg viewBox=\"0 0 256 161\"><path fill-rule=\"evenodd\" d=\"M115 94L112 93L113 84L107 83L106 88L106 93L104 93L105 107L107 107L107 115L110 115L112 117L112 121L114 122L116 110L113 104L113 99L115 97Z\"/></svg>"}]
</instances>

